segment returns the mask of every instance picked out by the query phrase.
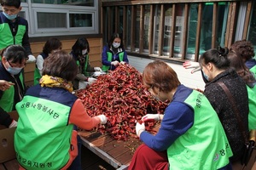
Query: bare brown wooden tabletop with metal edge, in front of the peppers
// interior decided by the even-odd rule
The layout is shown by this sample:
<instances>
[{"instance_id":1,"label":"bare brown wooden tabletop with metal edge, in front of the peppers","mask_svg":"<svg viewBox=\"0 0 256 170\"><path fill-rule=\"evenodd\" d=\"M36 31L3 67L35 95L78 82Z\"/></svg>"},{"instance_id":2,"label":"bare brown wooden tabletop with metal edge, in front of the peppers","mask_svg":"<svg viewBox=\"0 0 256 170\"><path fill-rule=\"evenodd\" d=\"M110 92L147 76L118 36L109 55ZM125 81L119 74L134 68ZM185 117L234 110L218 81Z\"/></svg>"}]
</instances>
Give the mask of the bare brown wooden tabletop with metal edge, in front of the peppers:
<instances>
[{"instance_id":1,"label":"bare brown wooden tabletop with metal edge, in front of the peppers","mask_svg":"<svg viewBox=\"0 0 256 170\"><path fill-rule=\"evenodd\" d=\"M154 127L158 130L160 124ZM130 138L127 141L112 139L108 134L98 132L80 132L82 144L97 156L107 161L108 164L118 170L128 168L134 151L142 144L139 139Z\"/></svg>"}]
</instances>

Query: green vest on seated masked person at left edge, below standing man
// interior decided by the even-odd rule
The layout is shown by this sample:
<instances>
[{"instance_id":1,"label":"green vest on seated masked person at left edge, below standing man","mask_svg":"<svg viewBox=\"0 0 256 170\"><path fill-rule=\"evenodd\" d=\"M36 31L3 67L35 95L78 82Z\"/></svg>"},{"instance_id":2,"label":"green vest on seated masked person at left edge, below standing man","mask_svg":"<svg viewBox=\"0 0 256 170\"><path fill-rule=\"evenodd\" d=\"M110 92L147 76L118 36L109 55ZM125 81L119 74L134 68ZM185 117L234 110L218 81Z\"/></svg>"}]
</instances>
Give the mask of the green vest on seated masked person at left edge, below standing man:
<instances>
[{"instance_id":1,"label":"green vest on seated masked person at left edge, below standing man","mask_svg":"<svg viewBox=\"0 0 256 170\"><path fill-rule=\"evenodd\" d=\"M23 89L25 89L24 87L24 80L23 80L23 74L20 73L20 82L22 84ZM3 108L4 111L10 112L13 111L13 108L15 106L15 87L14 86L10 86L10 88L8 90L5 90L3 92L2 98L0 99L0 106Z\"/></svg>"}]
</instances>

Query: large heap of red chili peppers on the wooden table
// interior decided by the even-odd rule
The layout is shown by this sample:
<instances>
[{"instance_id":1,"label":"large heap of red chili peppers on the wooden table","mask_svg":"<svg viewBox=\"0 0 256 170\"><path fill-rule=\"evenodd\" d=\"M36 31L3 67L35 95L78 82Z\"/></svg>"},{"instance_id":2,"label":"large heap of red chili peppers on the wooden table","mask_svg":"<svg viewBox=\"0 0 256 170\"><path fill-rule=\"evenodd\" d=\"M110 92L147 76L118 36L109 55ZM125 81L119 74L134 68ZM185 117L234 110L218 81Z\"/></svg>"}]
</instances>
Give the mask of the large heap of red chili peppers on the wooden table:
<instances>
[{"instance_id":1,"label":"large heap of red chili peppers on the wooden table","mask_svg":"<svg viewBox=\"0 0 256 170\"><path fill-rule=\"evenodd\" d=\"M105 125L96 128L113 139L137 138L136 122L147 113L160 114L167 104L157 101L143 87L142 74L131 65L119 65L114 71L97 77L90 86L76 91L89 116L104 114ZM146 130L154 133L155 122L146 122Z\"/></svg>"}]
</instances>

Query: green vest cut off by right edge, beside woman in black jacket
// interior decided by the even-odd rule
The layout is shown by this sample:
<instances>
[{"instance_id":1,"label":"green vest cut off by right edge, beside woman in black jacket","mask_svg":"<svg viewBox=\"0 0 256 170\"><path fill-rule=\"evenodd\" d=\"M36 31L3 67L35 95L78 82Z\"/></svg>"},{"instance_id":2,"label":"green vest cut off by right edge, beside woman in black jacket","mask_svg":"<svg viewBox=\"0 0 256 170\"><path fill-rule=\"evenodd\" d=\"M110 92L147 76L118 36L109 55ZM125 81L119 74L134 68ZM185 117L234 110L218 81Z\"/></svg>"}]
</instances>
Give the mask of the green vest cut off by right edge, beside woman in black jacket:
<instances>
[{"instance_id":1,"label":"green vest cut off by right edge, beside woman in black jacket","mask_svg":"<svg viewBox=\"0 0 256 170\"><path fill-rule=\"evenodd\" d=\"M247 86L248 102L249 102L249 130L256 129L256 88Z\"/></svg>"}]
</instances>

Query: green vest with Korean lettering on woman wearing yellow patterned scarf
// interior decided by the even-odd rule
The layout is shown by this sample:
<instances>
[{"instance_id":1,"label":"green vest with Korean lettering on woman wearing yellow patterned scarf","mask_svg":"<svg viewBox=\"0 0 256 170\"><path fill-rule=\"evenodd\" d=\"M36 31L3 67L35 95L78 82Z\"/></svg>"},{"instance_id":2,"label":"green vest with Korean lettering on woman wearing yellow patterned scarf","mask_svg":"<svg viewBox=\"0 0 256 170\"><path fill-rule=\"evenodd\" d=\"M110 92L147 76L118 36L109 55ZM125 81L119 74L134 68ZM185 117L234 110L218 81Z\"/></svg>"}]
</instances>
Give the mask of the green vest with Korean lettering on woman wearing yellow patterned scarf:
<instances>
[{"instance_id":1,"label":"green vest with Korean lettering on woman wearing yellow patterned scarf","mask_svg":"<svg viewBox=\"0 0 256 170\"><path fill-rule=\"evenodd\" d=\"M73 125L68 125L71 108L26 95L16 105L16 110L20 118L15 131L15 150L20 165L26 169L65 166L73 131Z\"/></svg>"}]
</instances>

